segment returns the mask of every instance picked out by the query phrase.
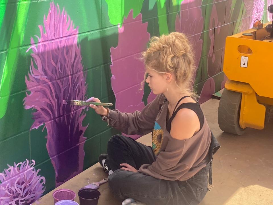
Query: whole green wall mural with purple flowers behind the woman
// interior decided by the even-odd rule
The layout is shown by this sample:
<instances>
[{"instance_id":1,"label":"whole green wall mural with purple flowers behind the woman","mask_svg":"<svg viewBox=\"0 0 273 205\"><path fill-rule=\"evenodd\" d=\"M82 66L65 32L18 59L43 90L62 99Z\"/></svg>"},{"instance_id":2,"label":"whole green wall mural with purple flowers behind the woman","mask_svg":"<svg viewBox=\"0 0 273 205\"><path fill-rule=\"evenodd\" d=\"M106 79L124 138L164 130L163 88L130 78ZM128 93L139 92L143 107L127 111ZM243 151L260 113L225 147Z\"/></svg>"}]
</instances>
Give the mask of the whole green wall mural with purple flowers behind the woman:
<instances>
[{"instance_id":1,"label":"whole green wall mural with purple flowers behind the woman","mask_svg":"<svg viewBox=\"0 0 273 205\"><path fill-rule=\"evenodd\" d=\"M119 131L63 100L122 112L154 99L140 83L150 37L185 33L204 103L224 87L226 36L268 22L272 0L0 1L0 205L29 205L94 165ZM140 136L130 136L135 139Z\"/></svg>"}]
</instances>

